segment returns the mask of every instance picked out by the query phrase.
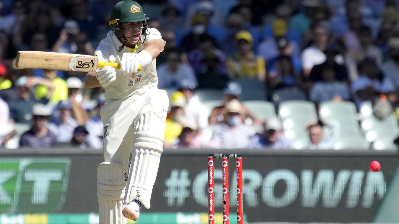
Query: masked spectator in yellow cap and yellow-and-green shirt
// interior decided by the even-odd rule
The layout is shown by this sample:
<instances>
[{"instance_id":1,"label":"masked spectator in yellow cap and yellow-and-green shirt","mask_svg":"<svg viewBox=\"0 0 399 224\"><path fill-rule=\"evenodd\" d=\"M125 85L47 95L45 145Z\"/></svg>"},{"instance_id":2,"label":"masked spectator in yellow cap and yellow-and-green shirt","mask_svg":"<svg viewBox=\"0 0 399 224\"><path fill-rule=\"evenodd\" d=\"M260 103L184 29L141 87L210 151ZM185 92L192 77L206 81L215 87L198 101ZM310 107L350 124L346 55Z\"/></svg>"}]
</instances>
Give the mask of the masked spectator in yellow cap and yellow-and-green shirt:
<instances>
[{"instance_id":1,"label":"masked spectator in yellow cap and yellow-and-green shirt","mask_svg":"<svg viewBox=\"0 0 399 224\"><path fill-rule=\"evenodd\" d=\"M248 31L239 31L235 35L237 54L227 58L227 74L231 80L239 78L259 79L266 78L266 63L261 56L255 56L252 51L253 38Z\"/></svg>"}]
</instances>

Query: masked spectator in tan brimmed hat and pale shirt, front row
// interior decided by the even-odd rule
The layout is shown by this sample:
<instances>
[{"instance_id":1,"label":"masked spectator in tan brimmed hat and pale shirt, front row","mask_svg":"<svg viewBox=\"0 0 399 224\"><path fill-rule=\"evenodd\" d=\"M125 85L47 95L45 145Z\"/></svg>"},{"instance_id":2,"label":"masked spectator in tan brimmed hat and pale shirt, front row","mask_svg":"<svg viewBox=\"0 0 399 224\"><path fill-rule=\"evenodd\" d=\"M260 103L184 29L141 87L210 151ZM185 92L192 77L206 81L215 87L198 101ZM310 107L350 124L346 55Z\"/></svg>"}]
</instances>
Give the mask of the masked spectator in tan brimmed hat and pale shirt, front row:
<instances>
[{"instance_id":1,"label":"masked spectator in tan brimmed hat and pale shirt, front row","mask_svg":"<svg viewBox=\"0 0 399 224\"><path fill-rule=\"evenodd\" d=\"M212 140L223 148L244 149L250 143L253 130L243 124L243 109L238 100L230 100L223 108L223 121L217 125Z\"/></svg>"}]
</instances>

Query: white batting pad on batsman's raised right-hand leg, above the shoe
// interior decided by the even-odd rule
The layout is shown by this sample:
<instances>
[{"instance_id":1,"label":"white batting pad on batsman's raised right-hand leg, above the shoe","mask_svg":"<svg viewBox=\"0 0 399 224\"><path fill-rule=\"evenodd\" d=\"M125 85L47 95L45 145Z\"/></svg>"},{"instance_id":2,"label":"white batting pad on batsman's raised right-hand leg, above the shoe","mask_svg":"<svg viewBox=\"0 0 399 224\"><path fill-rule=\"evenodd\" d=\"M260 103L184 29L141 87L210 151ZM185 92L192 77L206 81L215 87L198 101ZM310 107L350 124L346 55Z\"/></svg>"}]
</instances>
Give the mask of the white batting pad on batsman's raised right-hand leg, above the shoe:
<instances>
[{"instance_id":1,"label":"white batting pad on batsman's raised right-hand leg, above the shoe","mask_svg":"<svg viewBox=\"0 0 399 224\"><path fill-rule=\"evenodd\" d=\"M124 203L139 200L150 208L164 141L164 120L160 114L147 112L140 116L134 130L134 149L130 163L128 186Z\"/></svg>"}]
</instances>

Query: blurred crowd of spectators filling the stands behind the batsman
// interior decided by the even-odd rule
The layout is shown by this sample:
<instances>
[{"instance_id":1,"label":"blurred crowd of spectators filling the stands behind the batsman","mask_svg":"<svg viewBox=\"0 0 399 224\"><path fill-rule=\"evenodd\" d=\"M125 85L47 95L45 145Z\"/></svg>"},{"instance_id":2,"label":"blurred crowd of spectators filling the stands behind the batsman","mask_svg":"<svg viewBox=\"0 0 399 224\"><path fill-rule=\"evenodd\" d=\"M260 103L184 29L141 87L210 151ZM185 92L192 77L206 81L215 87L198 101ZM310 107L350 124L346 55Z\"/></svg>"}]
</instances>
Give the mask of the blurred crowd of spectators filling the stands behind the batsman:
<instances>
[{"instance_id":1,"label":"blurred crowd of spectators filling the stands behind the batsman","mask_svg":"<svg viewBox=\"0 0 399 224\"><path fill-rule=\"evenodd\" d=\"M117 2L0 0L1 147L102 149L104 89L85 88L85 73L19 69L15 58L30 50L93 55ZM399 115L398 0L140 4L166 41L156 59L158 88L170 97L165 147L333 149L334 120L304 120L308 142L298 147L280 116L264 119L245 106L264 100L278 109L282 92L317 113L323 102L353 102L356 113L370 102L381 120Z\"/></svg>"}]
</instances>

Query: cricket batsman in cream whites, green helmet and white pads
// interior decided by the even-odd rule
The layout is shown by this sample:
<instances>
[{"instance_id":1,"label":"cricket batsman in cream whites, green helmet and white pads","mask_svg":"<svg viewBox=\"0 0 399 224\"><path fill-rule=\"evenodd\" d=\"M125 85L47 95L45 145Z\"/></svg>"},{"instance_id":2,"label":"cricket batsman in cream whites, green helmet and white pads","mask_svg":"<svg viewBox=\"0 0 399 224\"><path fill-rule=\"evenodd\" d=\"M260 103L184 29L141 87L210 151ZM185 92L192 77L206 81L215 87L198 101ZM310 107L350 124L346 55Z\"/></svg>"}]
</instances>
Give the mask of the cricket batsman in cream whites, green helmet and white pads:
<instances>
[{"instance_id":1,"label":"cricket batsman in cream whites, green helmet and white pads","mask_svg":"<svg viewBox=\"0 0 399 224\"><path fill-rule=\"evenodd\" d=\"M87 87L103 86L107 98L101 109L105 162L97 167L100 224L138 220L141 206L150 208L169 100L165 90L158 90L155 63L165 41L148 19L137 2L117 3L111 31L95 55L100 61L120 63L120 69L106 66L85 79Z\"/></svg>"}]
</instances>

